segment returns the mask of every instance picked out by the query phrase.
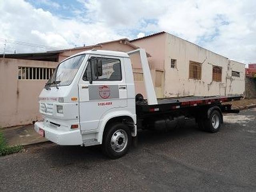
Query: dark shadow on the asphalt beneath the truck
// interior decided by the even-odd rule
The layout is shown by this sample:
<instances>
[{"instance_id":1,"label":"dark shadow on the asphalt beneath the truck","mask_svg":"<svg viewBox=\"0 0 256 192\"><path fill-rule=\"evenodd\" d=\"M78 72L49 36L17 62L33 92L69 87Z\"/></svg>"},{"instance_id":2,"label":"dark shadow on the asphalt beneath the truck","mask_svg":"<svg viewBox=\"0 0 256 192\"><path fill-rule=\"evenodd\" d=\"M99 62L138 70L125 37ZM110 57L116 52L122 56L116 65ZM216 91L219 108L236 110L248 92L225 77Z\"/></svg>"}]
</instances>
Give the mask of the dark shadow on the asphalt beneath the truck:
<instances>
[{"instance_id":1,"label":"dark shadow on the asphalt beneath the truck","mask_svg":"<svg viewBox=\"0 0 256 192\"><path fill-rule=\"evenodd\" d=\"M198 134L208 134L197 129L197 125L194 120L187 121L181 128L176 128L168 132L154 132L144 130L138 133L138 146L132 147L129 154L138 152L153 146L155 144L162 144L164 142L176 142L180 138L186 137L198 137ZM102 154L100 146L58 146L56 144L50 144L43 148L34 149L31 153L37 153L43 156L48 161L50 167L60 168L63 166L70 166L72 164L81 164L86 168L86 165L94 164L94 162L105 161L118 161L110 160L104 154ZM127 156L126 156L127 157ZM129 157L127 157L129 158ZM122 158L121 158L122 159Z\"/></svg>"}]
</instances>

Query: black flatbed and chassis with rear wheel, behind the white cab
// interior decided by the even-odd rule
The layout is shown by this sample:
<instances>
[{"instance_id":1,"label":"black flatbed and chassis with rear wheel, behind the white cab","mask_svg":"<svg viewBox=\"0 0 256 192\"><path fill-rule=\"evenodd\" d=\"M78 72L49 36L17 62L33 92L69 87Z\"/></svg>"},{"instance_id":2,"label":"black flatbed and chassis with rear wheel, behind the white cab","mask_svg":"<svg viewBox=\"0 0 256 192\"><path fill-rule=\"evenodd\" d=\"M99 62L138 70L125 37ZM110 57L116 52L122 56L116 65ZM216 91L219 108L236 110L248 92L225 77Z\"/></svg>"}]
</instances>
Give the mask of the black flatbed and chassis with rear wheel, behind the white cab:
<instances>
[{"instance_id":1,"label":"black flatbed and chassis with rear wheel, behind the white cab","mask_svg":"<svg viewBox=\"0 0 256 192\"><path fill-rule=\"evenodd\" d=\"M242 96L184 96L158 98L157 104L149 105L142 96L136 97L138 130L168 131L180 128L186 119L194 118L198 128L218 132L223 123L223 113L239 113L231 104L223 102L240 100Z\"/></svg>"}]
</instances>

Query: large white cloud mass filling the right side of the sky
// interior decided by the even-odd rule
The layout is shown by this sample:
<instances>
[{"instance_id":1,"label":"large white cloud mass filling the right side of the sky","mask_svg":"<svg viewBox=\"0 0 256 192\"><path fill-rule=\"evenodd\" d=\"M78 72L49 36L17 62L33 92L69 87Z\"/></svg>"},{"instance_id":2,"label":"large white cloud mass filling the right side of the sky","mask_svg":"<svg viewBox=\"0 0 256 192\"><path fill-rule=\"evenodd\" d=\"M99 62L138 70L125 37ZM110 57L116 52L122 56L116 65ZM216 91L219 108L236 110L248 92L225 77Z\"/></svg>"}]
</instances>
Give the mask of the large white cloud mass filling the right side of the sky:
<instances>
[{"instance_id":1,"label":"large white cloud mass filling the right side of the sky","mask_svg":"<svg viewBox=\"0 0 256 192\"><path fill-rule=\"evenodd\" d=\"M89 0L85 6L112 28L164 30L240 62L256 61L254 0ZM157 22L144 24L152 19Z\"/></svg>"}]
</instances>

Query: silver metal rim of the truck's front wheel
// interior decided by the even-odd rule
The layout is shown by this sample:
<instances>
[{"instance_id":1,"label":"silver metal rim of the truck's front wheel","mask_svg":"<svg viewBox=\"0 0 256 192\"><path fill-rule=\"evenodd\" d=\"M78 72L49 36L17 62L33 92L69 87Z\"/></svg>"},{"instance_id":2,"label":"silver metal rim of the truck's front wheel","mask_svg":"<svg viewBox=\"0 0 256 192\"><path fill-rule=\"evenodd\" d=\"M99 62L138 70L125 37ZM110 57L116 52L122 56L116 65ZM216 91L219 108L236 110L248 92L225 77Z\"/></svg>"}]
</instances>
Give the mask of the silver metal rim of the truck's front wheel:
<instances>
[{"instance_id":1,"label":"silver metal rim of the truck's front wheel","mask_svg":"<svg viewBox=\"0 0 256 192\"><path fill-rule=\"evenodd\" d=\"M112 135L111 138L111 147L115 152L123 151L128 144L128 136L127 133L119 129Z\"/></svg>"}]
</instances>

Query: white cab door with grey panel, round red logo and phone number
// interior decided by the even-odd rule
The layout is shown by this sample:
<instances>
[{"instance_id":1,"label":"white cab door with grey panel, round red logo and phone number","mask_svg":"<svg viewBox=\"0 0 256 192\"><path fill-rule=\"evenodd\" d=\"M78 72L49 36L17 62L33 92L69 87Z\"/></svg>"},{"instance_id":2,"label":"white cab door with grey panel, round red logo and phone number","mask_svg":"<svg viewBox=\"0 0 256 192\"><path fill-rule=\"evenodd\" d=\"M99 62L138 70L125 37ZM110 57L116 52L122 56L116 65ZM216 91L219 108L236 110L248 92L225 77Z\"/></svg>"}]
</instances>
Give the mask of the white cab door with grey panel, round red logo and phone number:
<instances>
[{"instance_id":1,"label":"white cab door with grey panel, round red logo and phone number","mask_svg":"<svg viewBox=\"0 0 256 192\"><path fill-rule=\"evenodd\" d=\"M95 72L97 62L102 64L102 74L98 77ZM92 82L90 75L94 79ZM123 58L90 55L78 83L78 92L81 132L97 130L104 113L127 106Z\"/></svg>"}]
</instances>

